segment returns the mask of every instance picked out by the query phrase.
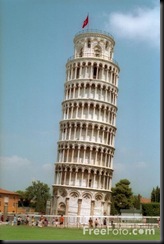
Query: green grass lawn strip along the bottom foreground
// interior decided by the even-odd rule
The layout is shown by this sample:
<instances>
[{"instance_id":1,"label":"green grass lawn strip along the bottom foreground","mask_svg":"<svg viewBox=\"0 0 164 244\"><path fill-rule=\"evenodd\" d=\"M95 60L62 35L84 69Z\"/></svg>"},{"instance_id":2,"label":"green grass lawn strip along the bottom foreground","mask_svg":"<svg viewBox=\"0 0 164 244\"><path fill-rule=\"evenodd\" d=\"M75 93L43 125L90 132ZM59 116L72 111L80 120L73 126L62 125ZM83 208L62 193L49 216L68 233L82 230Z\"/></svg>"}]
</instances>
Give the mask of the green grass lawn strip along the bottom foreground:
<instances>
[{"instance_id":1,"label":"green grass lawn strip along the bottom foreground","mask_svg":"<svg viewBox=\"0 0 164 244\"><path fill-rule=\"evenodd\" d=\"M125 240L150 240L160 241L160 229L154 229L154 232L149 232L144 229L86 229L86 232L82 228L55 228L55 227L42 227L37 226L0 226L0 239L1 240L51 240L51 241L125 241ZM84 233L85 232L85 233ZM106 233L105 233L106 232Z\"/></svg>"}]
</instances>

